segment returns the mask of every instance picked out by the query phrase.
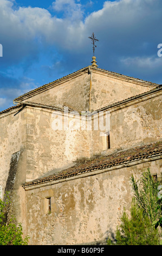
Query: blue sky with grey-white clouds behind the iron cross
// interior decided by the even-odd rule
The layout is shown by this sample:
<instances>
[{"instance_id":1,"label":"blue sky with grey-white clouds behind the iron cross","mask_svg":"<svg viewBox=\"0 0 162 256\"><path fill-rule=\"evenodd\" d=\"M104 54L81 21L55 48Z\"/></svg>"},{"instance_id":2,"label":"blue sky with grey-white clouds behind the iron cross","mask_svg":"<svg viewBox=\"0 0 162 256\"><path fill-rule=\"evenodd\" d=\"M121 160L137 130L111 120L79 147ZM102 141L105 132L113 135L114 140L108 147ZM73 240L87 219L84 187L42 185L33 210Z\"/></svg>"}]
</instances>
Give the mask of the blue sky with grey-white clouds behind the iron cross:
<instances>
[{"instance_id":1,"label":"blue sky with grey-white clouds behind the iron cross","mask_svg":"<svg viewBox=\"0 0 162 256\"><path fill-rule=\"evenodd\" d=\"M90 65L93 32L99 68L162 84L161 0L0 0L0 111Z\"/></svg>"}]
</instances>

